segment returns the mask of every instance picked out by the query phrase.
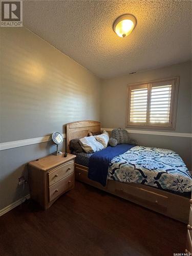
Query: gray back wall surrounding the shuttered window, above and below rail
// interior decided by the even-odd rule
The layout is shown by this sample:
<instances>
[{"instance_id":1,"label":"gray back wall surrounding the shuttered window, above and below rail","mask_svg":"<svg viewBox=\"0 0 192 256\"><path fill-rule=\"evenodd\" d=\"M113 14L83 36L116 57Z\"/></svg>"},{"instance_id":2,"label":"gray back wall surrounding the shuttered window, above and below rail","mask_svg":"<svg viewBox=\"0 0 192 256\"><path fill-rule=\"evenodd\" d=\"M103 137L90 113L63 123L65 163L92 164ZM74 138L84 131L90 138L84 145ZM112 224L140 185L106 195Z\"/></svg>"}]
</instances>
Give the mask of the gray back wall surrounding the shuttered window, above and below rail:
<instances>
[{"instance_id":1,"label":"gray back wall surrounding the shuttered window, above and below rail","mask_svg":"<svg viewBox=\"0 0 192 256\"><path fill-rule=\"evenodd\" d=\"M154 130L191 133L191 63L184 62L161 69L143 71L101 81L102 127L125 127L127 84L180 76L176 130ZM139 130L139 129L136 129ZM147 129L140 129L147 130ZM148 131L152 131L148 129ZM172 149L178 152L191 170L191 139L157 135L130 134L139 144Z\"/></svg>"}]
</instances>

